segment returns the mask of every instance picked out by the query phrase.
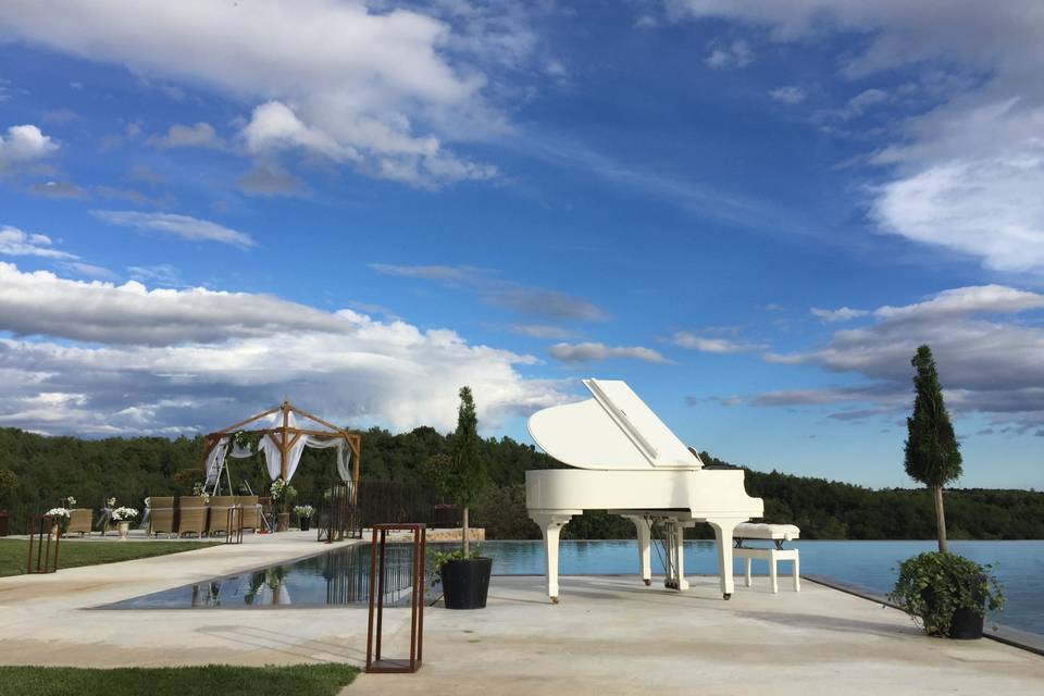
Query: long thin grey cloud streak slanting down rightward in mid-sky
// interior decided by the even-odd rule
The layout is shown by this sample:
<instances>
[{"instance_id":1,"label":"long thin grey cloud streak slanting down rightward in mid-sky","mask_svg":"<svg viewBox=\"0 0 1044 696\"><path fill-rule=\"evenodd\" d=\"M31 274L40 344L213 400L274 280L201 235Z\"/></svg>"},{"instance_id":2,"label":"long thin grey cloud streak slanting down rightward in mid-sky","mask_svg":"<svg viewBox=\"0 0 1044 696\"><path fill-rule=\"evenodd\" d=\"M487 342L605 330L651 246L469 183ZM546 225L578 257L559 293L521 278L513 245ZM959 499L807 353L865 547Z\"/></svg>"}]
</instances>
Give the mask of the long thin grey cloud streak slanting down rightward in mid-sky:
<instances>
[{"instance_id":1,"label":"long thin grey cloud streak slanting down rightward in mid-sky","mask_svg":"<svg viewBox=\"0 0 1044 696\"><path fill-rule=\"evenodd\" d=\"M489 304L552 321L593 321L609 319L601 308L585 299L559 290L531 287L505 281L490 269L468 265L400 265L371 263L382 275L436 281L472 289Z\"/></svg>"}]
</instances>

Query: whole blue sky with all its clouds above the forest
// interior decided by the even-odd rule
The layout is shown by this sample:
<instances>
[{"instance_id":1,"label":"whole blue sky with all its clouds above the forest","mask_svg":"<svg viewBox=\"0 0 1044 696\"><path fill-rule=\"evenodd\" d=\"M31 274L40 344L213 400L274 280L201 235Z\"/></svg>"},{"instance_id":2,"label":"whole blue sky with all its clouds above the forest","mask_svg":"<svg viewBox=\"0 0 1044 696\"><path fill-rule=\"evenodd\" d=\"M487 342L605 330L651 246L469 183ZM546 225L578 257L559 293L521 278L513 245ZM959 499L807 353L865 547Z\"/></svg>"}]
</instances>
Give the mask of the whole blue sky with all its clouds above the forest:
<instances>
[{"instance_id":1,"label":"whole blue sky with all its clouds above the forest","mask_svg":"<svg viewBox=\"0 0 1044 696\"><path fill-rule=\"evenodd\" d=\"M927 341L960 485L1039 488L1044 13L942 4L7 3L0 424L449 428L470 384L524 439L598 376L898 486Z\"/></svg>"}]
</instances>

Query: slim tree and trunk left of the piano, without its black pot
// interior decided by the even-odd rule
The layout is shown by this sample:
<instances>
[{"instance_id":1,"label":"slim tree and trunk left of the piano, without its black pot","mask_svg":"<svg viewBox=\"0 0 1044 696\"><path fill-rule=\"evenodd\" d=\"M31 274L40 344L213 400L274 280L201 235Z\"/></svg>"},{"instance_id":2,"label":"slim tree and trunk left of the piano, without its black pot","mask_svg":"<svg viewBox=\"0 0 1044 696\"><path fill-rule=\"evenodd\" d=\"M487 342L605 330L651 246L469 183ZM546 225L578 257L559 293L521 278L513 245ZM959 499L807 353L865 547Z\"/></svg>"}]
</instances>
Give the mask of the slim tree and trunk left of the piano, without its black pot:
<instances>
[{"instance_id":1,"label":"slim tree and trunk left of the piano, without its black pot","mask_svg":"<svg viewBox=\"0 0 1044 696\"><path fill-rule=\"evenodd\" d=\"M460 408L457 410L457 430L451 439L452 456L434 455L426 462L427 475L438 494L461 509L461 549L464 558L471 555L469 513L478 502L486 486L486 464L478 455L478 418L469 387L460 388Z\"/></svg>"}]
</instances>

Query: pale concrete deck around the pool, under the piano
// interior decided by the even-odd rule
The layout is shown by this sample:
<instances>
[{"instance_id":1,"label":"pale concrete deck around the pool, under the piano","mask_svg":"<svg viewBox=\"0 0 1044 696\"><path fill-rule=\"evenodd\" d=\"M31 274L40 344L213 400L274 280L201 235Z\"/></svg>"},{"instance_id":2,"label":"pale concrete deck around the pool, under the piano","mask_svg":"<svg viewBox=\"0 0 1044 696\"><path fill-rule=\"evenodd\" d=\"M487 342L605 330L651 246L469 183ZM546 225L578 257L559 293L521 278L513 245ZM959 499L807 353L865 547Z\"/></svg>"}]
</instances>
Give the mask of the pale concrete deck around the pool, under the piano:
<instances>
[{"instance_id":1,"label":"pale concrete deck around the pool, under the piano","mask_svg":"<svg viewBox=\"0 0 1044 696\"><path fill-rule=\"evenodd\" d=\"M365 659L360 608L83 609L324 550L313 533L247 537L151 559L0 579L0 663L83 667ZM73 542L75 543L75 542ZM335 545L339 546L339 545ZM717 579L692 589L625 576L494 577L481 611L425 611L417 674L362 674L350 694L1037 694L1044 658L993 641L928 638L900 612L804 583L765 579L723 601ZM409 636L385 613L385 656Z\"/></svg>"}]
</instances>

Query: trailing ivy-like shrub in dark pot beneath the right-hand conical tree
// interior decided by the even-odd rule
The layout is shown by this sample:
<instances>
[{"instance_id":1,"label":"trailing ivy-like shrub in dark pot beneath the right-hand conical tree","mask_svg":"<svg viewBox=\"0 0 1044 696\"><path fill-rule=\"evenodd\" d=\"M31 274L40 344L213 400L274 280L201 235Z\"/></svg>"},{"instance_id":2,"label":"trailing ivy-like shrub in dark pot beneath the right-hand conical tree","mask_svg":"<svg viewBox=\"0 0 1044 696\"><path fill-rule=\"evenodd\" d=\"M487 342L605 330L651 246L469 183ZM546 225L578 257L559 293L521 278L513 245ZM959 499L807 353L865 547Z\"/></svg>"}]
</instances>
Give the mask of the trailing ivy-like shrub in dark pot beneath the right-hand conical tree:
<instances>
[{"instance_id":1,"label":"trailing ivy-like shrub in dark pot beneath the right-hand conical tree","mask_svg":"<svg viewBox=\"0 0 1044 696\"><path fill-rule=\"evenodd\" d=\"M958 639L981 638L986 609L1004 607L1004 594L992 566L942 551L899 563L899 576L888 599L928 635Z\"/></svg>"}]
</instances>

